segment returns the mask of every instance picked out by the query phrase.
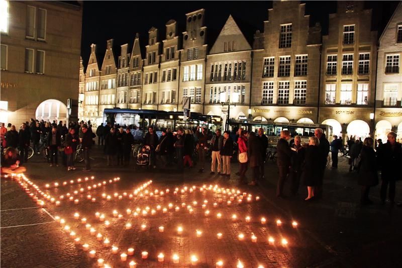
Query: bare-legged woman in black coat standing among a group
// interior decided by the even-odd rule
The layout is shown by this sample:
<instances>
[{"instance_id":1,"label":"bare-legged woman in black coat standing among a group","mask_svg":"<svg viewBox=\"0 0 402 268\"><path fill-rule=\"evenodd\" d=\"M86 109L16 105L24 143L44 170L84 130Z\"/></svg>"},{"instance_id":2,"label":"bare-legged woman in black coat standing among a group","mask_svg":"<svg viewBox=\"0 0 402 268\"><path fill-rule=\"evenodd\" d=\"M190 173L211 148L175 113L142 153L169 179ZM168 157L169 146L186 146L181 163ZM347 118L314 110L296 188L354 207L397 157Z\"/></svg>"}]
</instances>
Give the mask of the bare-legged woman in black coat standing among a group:
<instances>
[{"instance_id":1,"label":"bare-legged woman in black coat standing among a group","mask_svg":"<svg viewBox=\"0 0 402 268\"><path fill-rule=\"evenodd\" d=\"M320 140L317 137L309 138L309 145L306 147L305 162L303 166L302 180L307 186L309 192L306 201L314 199L315 186L320 179L320 170L317 166L317 155L320 154L318 145Z\"/></svg>"}]
</instances>

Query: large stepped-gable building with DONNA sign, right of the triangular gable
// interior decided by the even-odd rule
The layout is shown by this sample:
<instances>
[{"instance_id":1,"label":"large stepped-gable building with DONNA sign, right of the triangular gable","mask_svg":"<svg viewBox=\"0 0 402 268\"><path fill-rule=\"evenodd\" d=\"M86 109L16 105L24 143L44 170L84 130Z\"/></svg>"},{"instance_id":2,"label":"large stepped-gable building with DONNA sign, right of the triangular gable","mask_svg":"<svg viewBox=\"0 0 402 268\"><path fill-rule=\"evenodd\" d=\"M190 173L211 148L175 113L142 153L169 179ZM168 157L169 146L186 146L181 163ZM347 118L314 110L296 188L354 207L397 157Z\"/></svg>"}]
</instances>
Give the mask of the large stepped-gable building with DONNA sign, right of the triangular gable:
<instances>
[{"instance_id":1,"label":"large stepped-gable building with DONNA sign, right of the triangular gable","mask_svg":"<svg viewBox=\"0 0 402 268\"><path fill-rule=\"evenodd\" d=\"M274 1L256 32L251 117L262 121L316 123L321 27L310 27L306 4ZM268 130L266 130L268 133Z\"/></svg>"}]
</instances>

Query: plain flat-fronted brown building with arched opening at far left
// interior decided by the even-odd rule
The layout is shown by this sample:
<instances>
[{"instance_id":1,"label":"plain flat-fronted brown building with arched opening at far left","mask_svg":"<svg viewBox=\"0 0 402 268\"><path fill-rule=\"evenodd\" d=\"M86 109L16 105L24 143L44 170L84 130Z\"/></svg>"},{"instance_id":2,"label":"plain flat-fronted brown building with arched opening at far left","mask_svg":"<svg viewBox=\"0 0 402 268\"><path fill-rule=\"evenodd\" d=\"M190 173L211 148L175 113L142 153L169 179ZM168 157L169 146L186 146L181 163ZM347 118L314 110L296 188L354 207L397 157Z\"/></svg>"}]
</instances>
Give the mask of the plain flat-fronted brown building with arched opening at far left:
<instances>
[{"instance_id":1,"label":"plain flat-fronted brown building with arched opening at far left","mask_svg":"<svg viewBox=\"0 0 402 268\"><path fill-rule=\"evenodd\" d=\"M76 120L82 6L6 0L0 5L0 121L18 127L30 118Z\"/></svg>"}]
</instances>

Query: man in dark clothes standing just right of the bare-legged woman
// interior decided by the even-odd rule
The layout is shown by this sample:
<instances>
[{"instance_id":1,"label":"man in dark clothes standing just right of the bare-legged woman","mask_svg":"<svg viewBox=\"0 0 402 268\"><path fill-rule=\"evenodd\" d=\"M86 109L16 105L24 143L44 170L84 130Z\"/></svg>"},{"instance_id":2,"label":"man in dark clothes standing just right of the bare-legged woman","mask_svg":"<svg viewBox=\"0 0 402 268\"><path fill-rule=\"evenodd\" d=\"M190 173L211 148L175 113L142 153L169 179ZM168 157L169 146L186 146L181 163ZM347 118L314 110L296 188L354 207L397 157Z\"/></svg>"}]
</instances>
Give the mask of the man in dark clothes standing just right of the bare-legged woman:
<instances>
[{"instance_id":1,"label":"man in dark clothes standing just right of the bare-legged woman","mask_svg":"<svg viewBox=\"0 0 402 268\"><path fill-rule=\"evenodd\" d=\"M319 168L319 180L315 188L315 198L317 199L321 198L323 195L323 181L325 168L327 166L327 157L330 152L330 142L325 137L324 130L322 128L316 128L314 130L314 136L316 136L320 140L320 144L318 145L320 155L317 160Z\"/></svg>"}]
</instances>

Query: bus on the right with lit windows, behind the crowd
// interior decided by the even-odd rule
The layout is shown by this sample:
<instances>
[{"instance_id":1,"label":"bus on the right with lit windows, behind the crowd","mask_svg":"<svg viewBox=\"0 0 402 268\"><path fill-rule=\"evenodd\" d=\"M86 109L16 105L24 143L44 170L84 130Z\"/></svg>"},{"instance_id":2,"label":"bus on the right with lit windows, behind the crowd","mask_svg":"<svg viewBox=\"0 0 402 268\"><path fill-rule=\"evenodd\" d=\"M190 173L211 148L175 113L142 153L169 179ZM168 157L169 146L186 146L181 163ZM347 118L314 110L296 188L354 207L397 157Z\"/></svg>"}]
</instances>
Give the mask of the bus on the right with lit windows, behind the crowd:
<instances>
[{"instance_id":1,"label":"bus on the right with lit windows, behind the crowd","mask_svg":"<svg viewBox=\"0 0 402 268\"><path fill-rule=\"evenodd\" d=\"M302 138L302 142L309 142L309 137L314 136L314 130L321 128L324 131L326 138L331 142L332 126L325 124L308 124L308 123L284 123L284 122L268 122L261 120L231 120L229 124L232 127L244 128L248 131L258 132L259 128L264 130L265 135L268 137L268 145L276 146L280 138L282 130L290 132L290 138L298 135Z\"/></svg>"}]
</instances>

